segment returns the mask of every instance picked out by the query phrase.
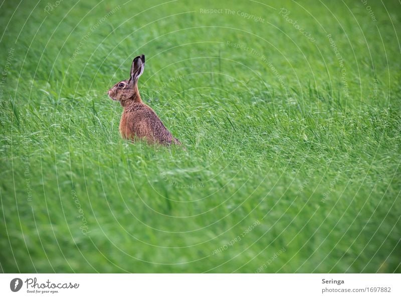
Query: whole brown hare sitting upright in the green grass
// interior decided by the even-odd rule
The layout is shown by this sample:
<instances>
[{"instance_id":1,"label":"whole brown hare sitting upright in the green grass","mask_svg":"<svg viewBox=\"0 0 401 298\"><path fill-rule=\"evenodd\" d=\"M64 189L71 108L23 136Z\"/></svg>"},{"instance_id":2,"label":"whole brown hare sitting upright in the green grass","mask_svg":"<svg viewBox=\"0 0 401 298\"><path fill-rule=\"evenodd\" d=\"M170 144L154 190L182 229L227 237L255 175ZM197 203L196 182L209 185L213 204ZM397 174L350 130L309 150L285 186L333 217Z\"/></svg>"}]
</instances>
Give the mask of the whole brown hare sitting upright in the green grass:
<instances>
[{"instance_id":1,"label":"whole brown hare sitting upright in the green grass","mask_svg":"<svg viewBox=\"0 0 401 298\"><path fill-rule=\"evenodd\" d=\"M165 128L156 113L142 102L138 90L138 78L145 66L145 55L132 61L130 78L115 84L107 94L112 100L118 100L124 111L121 115L121 137L134 141L145 139L148 143L162 145L181 144Z\"/></svg>"}]
</instances>

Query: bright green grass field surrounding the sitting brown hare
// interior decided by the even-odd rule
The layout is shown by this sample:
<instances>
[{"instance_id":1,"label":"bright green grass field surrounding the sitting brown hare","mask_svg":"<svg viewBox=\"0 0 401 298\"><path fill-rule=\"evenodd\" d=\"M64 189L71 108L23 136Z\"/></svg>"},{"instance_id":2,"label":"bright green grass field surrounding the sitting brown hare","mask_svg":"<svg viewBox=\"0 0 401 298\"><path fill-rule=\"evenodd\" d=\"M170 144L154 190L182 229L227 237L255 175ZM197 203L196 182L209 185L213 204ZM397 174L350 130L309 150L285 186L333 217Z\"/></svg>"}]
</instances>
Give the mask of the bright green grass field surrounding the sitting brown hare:
<instances>
[{"instance_id":1,"label":"bright green grass field surrounding the sitting brown hare","mask_svg":"<svg viewBox=\"0 0 401 298\"><path fill-rule=\"evenodd\" d=\"M0 271L401 272L399 2L48 3L0 8ZM119 136L139 54L186 151Z\"/></svg>"}]
</instances>

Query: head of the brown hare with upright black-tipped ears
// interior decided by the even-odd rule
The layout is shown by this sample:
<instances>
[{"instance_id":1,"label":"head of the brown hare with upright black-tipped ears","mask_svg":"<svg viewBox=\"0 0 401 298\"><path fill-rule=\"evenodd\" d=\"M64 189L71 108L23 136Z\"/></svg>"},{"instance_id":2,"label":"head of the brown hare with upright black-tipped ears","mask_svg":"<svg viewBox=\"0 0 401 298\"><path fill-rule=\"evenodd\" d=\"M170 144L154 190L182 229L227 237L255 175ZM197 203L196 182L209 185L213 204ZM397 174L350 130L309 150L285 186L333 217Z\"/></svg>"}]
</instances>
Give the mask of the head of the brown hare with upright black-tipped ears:
<instances>
[{"instance_id":1,"label":"head of the brown hare with upright black-tipped ears","mask_svg":"<svg viewBox=\"0 0 401 298\"><path fill-rule=\"evenodd\" d=\"M128 101L141 102L138 91L138 78L142 75L145 67L145 55L135 57L132 61L130 78L115 84L107 94L112 100L118 100L122 106Z\"/></svg>"}]
</instances>

